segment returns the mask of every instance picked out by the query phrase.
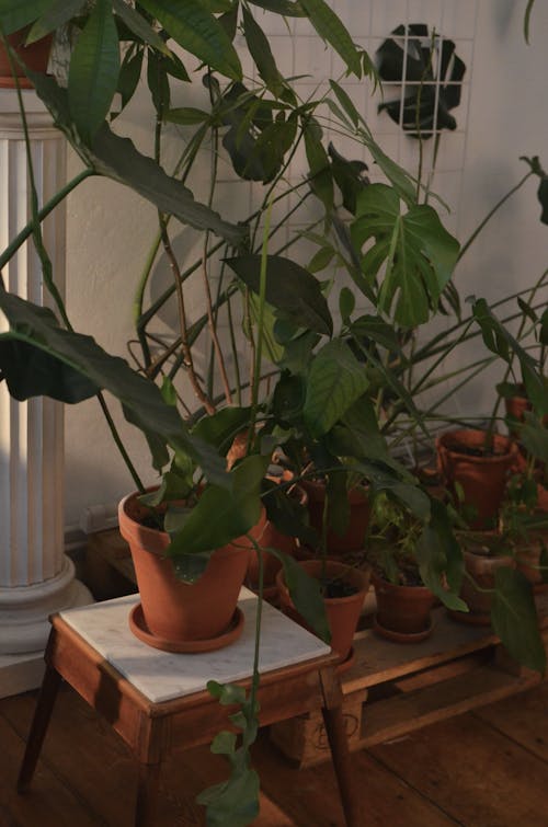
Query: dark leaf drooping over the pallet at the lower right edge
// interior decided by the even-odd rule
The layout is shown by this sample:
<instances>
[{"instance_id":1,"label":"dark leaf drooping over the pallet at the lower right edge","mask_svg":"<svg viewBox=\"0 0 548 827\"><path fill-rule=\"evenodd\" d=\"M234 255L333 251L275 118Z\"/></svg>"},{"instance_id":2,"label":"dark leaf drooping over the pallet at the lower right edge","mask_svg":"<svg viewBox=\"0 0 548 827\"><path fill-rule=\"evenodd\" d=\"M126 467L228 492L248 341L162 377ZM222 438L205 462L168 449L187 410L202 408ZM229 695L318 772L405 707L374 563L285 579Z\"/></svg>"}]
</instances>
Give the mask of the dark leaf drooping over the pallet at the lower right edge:
<instances>
[{"instance_id":1,"label":"dark leaf drooping over the pallet at the lower right edge","mask_svg":"<svg viewBox=\"0 0 548 827\"><path fill-rule=\"evenodd\" d=\"M544 675L546 652L530 583L516 568L499 566L491 605L491 624L509 654L523 666Z\"/></svg>"}]
</instances>

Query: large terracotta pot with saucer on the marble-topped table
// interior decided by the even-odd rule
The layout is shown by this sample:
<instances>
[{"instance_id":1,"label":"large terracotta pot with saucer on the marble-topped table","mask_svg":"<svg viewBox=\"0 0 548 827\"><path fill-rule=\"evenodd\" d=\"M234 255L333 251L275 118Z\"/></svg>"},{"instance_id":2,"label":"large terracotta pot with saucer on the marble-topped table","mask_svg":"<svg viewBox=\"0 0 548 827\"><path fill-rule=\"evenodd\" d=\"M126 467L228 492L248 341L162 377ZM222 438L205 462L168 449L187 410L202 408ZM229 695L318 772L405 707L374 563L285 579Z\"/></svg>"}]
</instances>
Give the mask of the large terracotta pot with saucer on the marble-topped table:
<instances>
[{"instance_id":1,"label":"large terracotta pot with saucer on the marble-topped table","mask_svg":"<svg viewBox=\"0 0 548 827\"><path fill-rule=\"evenodd\" d=\"M122 537L132 551L145 632L150 636L147 642L174 652L219 648L232 642L238 596L252 548L250 541L242 537L217 549L202 577L194 584L183 583L175 576L172 561L164 556L168 533L139 521L148 509L137 497L132 494L122 501L118 519ZM263 512L253 529L258 538L264 524ZM241 623L238 627L241 632L240 627ZM133 631L144 639L139 629Z\"/></svg>"}]
</instances>

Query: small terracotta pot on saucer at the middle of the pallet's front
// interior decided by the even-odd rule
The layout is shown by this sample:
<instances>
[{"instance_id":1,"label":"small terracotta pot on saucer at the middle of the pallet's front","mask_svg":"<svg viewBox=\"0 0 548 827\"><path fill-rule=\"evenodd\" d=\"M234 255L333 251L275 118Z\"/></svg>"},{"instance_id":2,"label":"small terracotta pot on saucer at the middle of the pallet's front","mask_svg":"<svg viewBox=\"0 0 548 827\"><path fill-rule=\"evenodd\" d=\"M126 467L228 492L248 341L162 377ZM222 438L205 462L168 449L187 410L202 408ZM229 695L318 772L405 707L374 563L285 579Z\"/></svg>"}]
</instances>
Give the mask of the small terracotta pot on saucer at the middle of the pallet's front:
<instances>
[{"instance_id":1,"label":"small terracotta pot on saucer at the middle of the pallet's front","mask_svg":"<svg viewBox=\"0 0 548 827\"><path fill-rule=\"evenodd\" d=\"M377 597L375 631L399 643L414 643L432 633L435 595L426 586L401 586L372 575Z\"/></svg>"}]
</instances>

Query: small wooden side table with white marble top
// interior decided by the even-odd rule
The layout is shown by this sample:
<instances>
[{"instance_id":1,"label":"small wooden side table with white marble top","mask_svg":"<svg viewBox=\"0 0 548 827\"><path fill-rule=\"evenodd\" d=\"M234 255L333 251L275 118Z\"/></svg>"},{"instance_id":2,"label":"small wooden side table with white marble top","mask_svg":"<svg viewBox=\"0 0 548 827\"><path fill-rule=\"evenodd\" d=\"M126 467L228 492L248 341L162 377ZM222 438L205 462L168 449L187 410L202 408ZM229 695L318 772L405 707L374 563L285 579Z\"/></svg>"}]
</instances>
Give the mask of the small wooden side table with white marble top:
<instances>
[{"instance_id":1,"label":"small wooden side table with white marble top","mask_svg":"<svg viewBox=\"0 0 548 827\"><path fill-rule=\"evenodd\" d=\"M152 827L160 768L175 748L208 743L235 709L221 707L206 682L238 681L249 688L252 671L256 598L242 589L246 614L241 639L232 646L201 655L174 655L141 643L127 616L138 595L71 609L52 618L45 653L46 671L18 789L27 790L46 734L61 679L122 736L138 762L136 827ZM313 635L267 604L263 606L261 725L321 709L347 827L359 827L359 802L352 780L342 716L336 658Z\"/></svg>"}]
</instances>

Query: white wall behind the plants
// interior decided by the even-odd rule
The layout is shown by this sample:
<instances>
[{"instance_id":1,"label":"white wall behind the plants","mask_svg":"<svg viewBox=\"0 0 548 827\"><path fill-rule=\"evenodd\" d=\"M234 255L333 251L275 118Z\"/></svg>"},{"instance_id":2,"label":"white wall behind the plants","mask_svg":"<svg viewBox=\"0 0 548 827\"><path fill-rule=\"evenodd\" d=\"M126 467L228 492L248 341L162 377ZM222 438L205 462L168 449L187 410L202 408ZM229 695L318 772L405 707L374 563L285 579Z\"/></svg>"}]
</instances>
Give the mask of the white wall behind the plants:
<instances>
[{"instance_id":1,"label":"white wall behind the plants","mask_svg":"<svg viewBox=\"0 0 548 827\"><path fill-rule=\"evenodd\" d=\"M456 41L468 71L456 112L459 128L444 140L436 186L454 207L447 223L460 239L467 238L493 202L524 173L518 156L539 154L548 169L546 3L537 2L534 10L529 46L522 34L524 3L512 0L336 0L333 5L355 39L370 51L406 15L409 22L426 22ZM306 92L316 79L336 76L340 62L310 37L301 21L293 26L293 41L279 21L271 26L271 33L286 74L313 71L313 81L301 81ZM350 82L347 89L386 150L412 166L416 147L399 135L386 116L377 116L378 97L369 100L369 84ZM150 152L152 115L145 103L132 104L123 118L124 131L141 151ZM357 157L355 148L341 149ZM69 168L69 175L78 170L76 158ZM298 176L298 170L292 169L292 175ZM547 265L548 228L538 221L535 189L536 183L528 184L506 205L463 261L458 274L463 295L503 295L514 285L532 284ZM229 198L227 214L235 218ZM134 286L155 232L155 210L114 183L89 180L69 198L70 317L78 330L121 355L126 355L132 335ZM93 310L99 296L101 314ZM479 382L468 397L460 394L455 404L467 410L470 398L475 404L479 401L488 406L487 382ZM132 487L132 481L93 400L69 407L66 423L67 524L75 524L83 507L116 501ZM151 480L146 471L146 448L132 428L124 427L124 433L139 470Z\"/></svg>"}]
</instances>

